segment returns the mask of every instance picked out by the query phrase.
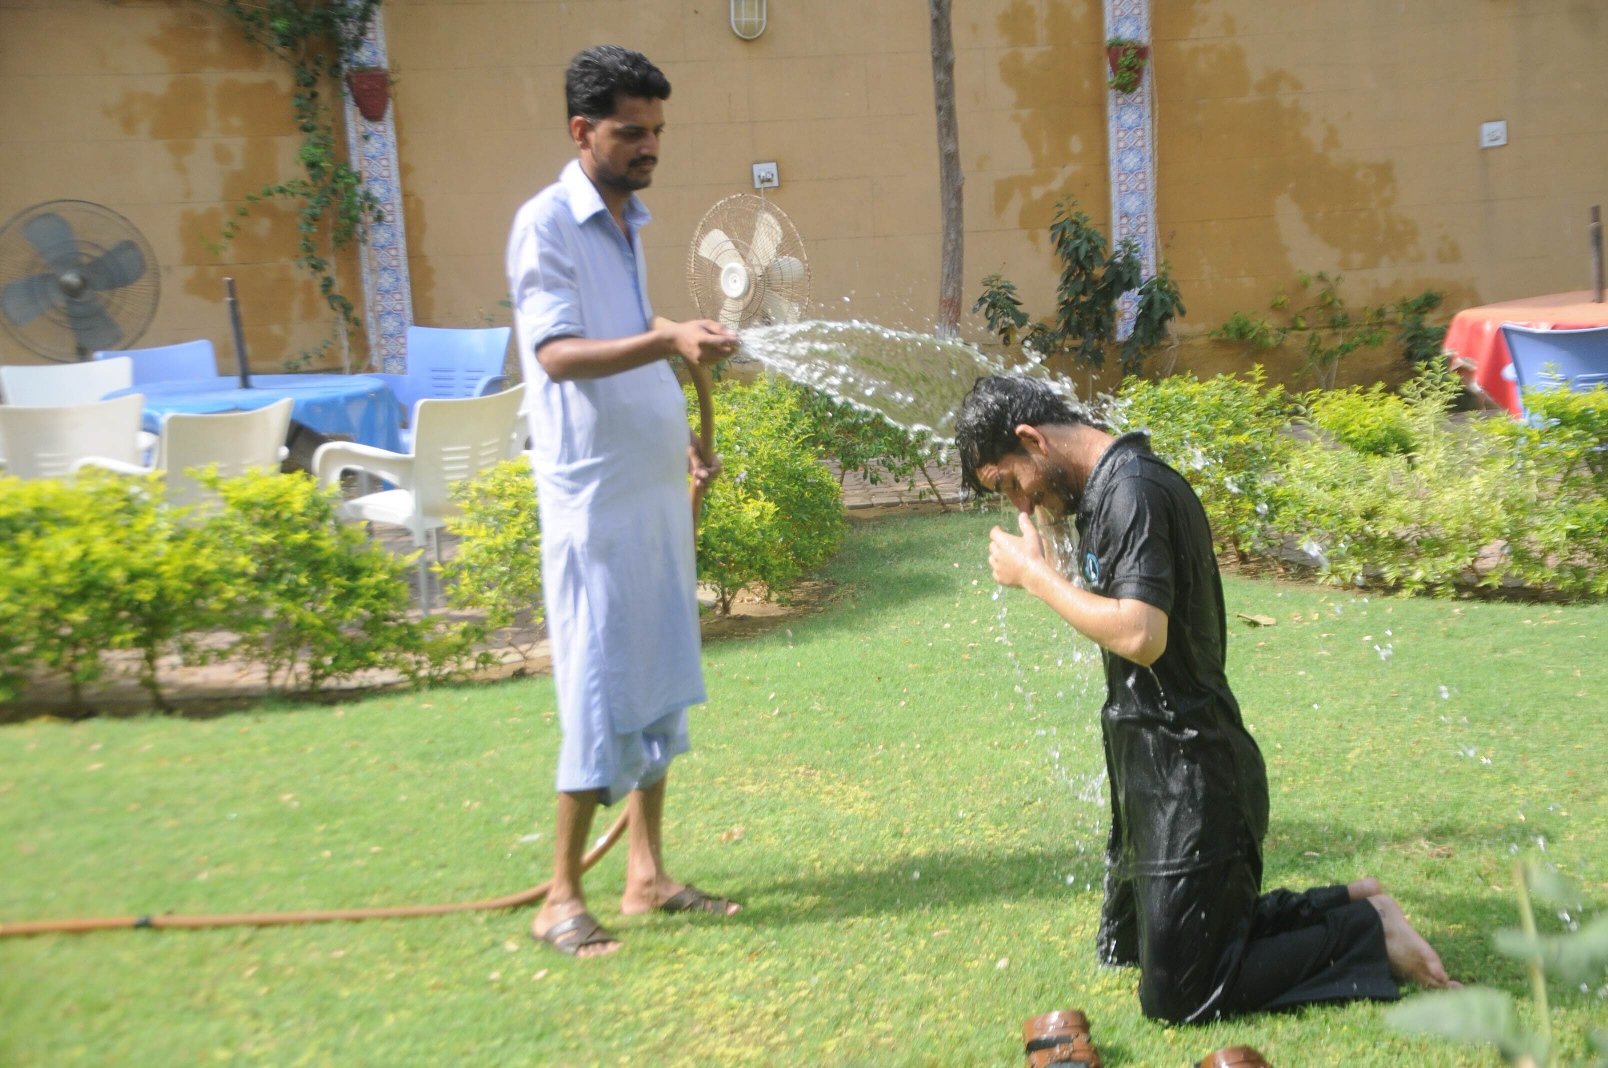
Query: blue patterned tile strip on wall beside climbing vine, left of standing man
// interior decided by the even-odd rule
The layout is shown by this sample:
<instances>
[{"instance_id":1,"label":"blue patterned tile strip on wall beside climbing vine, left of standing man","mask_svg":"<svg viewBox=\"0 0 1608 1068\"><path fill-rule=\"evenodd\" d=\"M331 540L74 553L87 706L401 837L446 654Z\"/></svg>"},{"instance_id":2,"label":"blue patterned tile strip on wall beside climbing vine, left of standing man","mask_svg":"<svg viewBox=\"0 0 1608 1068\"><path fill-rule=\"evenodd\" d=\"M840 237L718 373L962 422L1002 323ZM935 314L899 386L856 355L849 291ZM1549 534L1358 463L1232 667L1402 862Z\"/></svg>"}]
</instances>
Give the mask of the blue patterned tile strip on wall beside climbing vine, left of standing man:
<instances>
[{"instance_id":1,"label":"blue patterned tile strip on wall beside climbing vine, left of standing man","mask_svg":"<svg viewBox=\"0 0 1608 1068\"><path fill-rule=\"evenodd\" d=\"M375 11L368 37L349 66L389 69L384 13ZM384 219L368 227L368 243L359 249L363 265L363 328L368 362L375 370L407 370L407 328L413 322L413 288L407 270L407 235L402 230L402 170L397 166L396 106L370 122L346 97L346 148L363 185L379 201Z\"/></svg>"}]
</instances>

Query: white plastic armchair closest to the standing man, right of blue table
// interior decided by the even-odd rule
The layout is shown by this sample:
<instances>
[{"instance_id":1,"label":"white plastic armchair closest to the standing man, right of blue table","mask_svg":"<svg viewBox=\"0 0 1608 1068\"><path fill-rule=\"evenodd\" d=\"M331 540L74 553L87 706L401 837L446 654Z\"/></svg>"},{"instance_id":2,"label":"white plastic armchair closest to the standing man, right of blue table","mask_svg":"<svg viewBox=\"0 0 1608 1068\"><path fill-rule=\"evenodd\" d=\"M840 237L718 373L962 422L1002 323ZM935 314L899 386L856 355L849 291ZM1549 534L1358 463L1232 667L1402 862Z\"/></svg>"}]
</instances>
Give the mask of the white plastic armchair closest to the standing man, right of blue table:
<instances>
[{"instance_id":1,"label":"white plastic armchair closest to the standing man, right of blue table","mask_svg":"<svg viewBox=\"0 0 1608 1068\"><path fill-rule=\"evenodd\" d=\"M457 515L450 489L513 455L513 425L524 386L489 397L420 400L413 417L412 452L388 452L373 446L331 441L312 454L312 471L325 486L339 486L341 474L357 471L392 484L339 507L341 518L402 526L413 545L426 545L441 563L439 531ZM429 563L418 558L418 603L429 611Z\"/></svg>"}]
</instances>

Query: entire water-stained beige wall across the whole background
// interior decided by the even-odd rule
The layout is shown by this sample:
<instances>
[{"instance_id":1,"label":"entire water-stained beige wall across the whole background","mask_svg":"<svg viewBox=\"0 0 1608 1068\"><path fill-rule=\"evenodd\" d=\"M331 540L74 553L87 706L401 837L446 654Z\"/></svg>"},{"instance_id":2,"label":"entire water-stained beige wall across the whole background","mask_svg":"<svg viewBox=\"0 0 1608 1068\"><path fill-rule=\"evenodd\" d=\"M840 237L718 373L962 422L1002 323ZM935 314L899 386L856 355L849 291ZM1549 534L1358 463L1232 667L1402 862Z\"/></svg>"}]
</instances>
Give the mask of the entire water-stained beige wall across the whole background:
<instances>
[{"instance_id":1,"label":"entire water-stained beige wall across the whole background","mask_svg":"<svg viewBox=\"0 0 1608 1068\"><path fill-rule=\"evenodd\" d=\"M769 8L767 32L743 42L724 0L388 0L415 318L507 322L508 220L572 156L563 68L608 40L674 84L645 195L662 314L693 312L683 267L703 211L773 159L769 196L804 236L817 314L928 325L926 5ZM1108 230L1101 8L989 0L954 18L966 302L999 270L1045 315L1055 199L1076 195ZM1585 216L1608 201L1598 0L1171 0L1151 18L1158 230L1183 331L1262 309L1298 270L1341 272L1354 302L1444 290L1447 314L1589 285ZM164 264L150 339L225 341L212 296L225 265L251 281L248 315L267 335L254 352L322 333L267 216L224 261L203 246L230 203L288 172L288 114L281 74L199 3L0 0L0 216L84 196L135 219ZM1487 119L1507 119L1508 146L1479 148ZM981 323L966 331L981 338ZM1180 362L1224 370L1245 355L1192 343Z\"/></svg>"}]
</instances>

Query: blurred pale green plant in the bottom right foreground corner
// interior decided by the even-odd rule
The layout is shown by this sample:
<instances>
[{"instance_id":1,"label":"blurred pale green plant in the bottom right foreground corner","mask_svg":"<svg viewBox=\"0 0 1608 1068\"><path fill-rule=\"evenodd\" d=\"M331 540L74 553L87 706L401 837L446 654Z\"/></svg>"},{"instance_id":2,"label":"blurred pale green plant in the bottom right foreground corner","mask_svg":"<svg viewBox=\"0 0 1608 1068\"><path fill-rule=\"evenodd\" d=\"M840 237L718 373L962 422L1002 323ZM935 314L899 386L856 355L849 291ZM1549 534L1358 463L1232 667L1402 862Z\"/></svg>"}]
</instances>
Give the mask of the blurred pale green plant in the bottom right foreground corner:
<instances>
[{"instance_id":1,"label":"blurred pale green plant in the bottom right foreground corner","mask_svg":"<svg viewBox=\"0 0 1608 1068\"><path fill-rule=\"evenodd\" d=\"M1510 1065L1557 1068L1560 1060L1552 1033L1547 980L1590 983L1608 973L1608 914L1584 926L1577 925L1573 917L1585 907L1584 894L1550 864L1515 862L1513 885L1520 928L1497 931L1492 941L1499 954L1523 962L1529 973L1534 1028L1524 1026L1508 992L1486 986L1417 994L1391 1008L1386 1021L1402 1031L1495 1045ZM1555 906L1569 930L1540 933L1532 901ZM1598 1068L1608 1065L1608 1031L1597 1031L1589 1041L1597 1052L1592 1063Z\"/></svg>"}]
</instances>

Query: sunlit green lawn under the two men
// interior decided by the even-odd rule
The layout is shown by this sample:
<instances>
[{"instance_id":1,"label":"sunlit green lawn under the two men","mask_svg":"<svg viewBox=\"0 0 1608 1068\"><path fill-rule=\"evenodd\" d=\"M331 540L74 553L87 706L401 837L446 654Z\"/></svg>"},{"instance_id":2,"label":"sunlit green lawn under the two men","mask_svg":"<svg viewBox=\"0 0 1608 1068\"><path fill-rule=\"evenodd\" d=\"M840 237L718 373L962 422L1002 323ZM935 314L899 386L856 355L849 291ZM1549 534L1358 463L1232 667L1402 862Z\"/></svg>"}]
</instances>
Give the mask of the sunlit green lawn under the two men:
<instances>
[{"instance_id":1,"label":"sunlit green lawn under the two men","mask_svg":"<svg viewBox=\"0 0 1608 1068\"><path fill-rule=\"evenodd\" d=\"M1491 1065L1372 1004L1166 1028L1095 963L1106 801L1092 647L984 565L994 515L855 524L830 603L706 648L672 870L746 909L621 918L571 962L529 910L0 941L5 1065L1019 1065L1079 1007L1105 1063ZM1267 756L1267 885L1373 873L1454 975L1524 997L1489 933L1515 854L1608 889L1608 608L1230 579ZM1388 658L1386 658L1388 653ZM0 729L0 918L511 893L552 849L547 679L215 719ZM1558 922L1544 915L1553 928ZM1568 1060L1605 991L1553 989Z\"/></svg>"}]
</instances>

